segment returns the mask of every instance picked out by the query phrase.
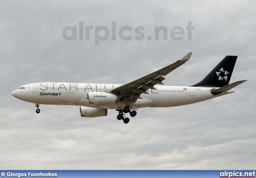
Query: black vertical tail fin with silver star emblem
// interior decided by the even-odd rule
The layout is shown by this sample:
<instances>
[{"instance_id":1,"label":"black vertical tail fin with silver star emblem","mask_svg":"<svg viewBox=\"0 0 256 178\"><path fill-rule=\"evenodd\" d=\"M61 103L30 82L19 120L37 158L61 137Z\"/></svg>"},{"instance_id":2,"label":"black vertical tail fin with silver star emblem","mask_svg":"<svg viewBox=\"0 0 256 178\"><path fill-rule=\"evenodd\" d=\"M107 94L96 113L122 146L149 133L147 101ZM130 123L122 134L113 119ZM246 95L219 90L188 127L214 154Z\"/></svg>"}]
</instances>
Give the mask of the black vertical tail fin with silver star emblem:
<instances>
[{"instance_id":1,"label":"black vertical tail fin with silver star emblem","mask_svg":"<svg viewBox=\"0 0 256 178\"><path fill-rule=\"evenodd\" d=\"M201 82L192 86L223 87L228 85L236 58L237 56L226 56Z\"/></svg>"}]
</instances>

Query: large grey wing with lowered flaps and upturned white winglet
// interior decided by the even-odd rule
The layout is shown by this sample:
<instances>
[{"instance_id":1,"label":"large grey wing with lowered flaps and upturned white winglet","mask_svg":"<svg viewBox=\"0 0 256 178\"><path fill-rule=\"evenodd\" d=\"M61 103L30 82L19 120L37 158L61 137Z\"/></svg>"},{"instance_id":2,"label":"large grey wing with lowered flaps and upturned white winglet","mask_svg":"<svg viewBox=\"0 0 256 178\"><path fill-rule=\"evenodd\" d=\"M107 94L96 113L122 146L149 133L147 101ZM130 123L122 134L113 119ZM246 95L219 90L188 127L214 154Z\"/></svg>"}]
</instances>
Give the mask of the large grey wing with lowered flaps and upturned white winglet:
<instances>
[{"instance_id":1,"label":"large grey wing with lowered flaps and upturned white winglet","mask_svg":"<svg viewBox=\"0 0 256 178\"><path fill-rule=\"evenodd\" d=\"M140 94L148 94L146 90L152 89L156 90L154 85L156 84L164 84L162 81L165 79L163 76L166 76L170 72L172 72L174 69L178 68L185 62L187 62L192 55L192 52L189 52L186 56L184 56L182 59L165 66L164 68L161 68L159 70L156 70L155 72L152 72L146 76L143 76L141 78L138 78L136 80L133 80L132 82L128 82L126 84L123 84L121 86L112 88L111 91L113 92L119 92L120 95L128 96L130 98L131 102L136 102L137 99L142 99L140 97Z\"/></svg>"}]
</instances>

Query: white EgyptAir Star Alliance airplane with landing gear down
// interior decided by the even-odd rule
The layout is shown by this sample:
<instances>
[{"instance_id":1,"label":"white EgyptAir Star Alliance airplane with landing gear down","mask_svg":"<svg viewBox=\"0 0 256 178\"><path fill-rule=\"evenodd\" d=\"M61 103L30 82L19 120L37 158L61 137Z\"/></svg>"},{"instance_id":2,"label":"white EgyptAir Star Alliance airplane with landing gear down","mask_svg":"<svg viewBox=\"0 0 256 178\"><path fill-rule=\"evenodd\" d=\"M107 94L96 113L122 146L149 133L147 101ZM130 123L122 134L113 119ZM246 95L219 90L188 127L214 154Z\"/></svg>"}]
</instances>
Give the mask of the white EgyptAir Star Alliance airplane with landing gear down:
<instances>
[{"instance_id":1,"label":"white EgyptAir Star Alliance airplane with landing gear down","mask_svg":"<svg viewBox=\"0 0 256 178\"><path fill-rule=\"evenodd\" d=\"M89 84L41 82L26 84L12 92L12 96L35 104L80 106L81 117L106 116L108 109L119 112L117 119L127 124L136 116L138 108L174 107L202 102L234 92L234 87L246 82L229 84L237 56L226 56L202 81L192 86L160 86L166 76L191 57L189 52L182 59L155 72L126 84ZM158 85L160 84L160 85Z\"/></svg>"}]
</instances>

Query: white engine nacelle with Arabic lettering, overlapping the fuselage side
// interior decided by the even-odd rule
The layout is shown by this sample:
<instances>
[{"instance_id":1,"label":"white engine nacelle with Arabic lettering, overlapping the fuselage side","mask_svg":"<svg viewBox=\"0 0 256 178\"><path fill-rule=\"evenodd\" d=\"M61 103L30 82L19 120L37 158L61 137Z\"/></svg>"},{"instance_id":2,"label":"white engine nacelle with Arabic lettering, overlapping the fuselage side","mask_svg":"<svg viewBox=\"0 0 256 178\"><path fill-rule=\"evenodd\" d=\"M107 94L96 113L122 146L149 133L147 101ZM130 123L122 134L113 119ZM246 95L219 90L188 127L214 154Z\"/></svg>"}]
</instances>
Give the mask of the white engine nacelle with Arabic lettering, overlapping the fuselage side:
<instances>
[{"instance_id":1,"label":"white engine nacelle with Arabic lettering, overlapping the fuselage side","mask_svg":"<svg viewBox=\"0 0 256 178\"><path fill-rule=\"evenodd\" d=\"M117 103L117 96L115 94L104 92L89 92L87 94L88 104L101 105Z\"/></svg>"}]
</instances>

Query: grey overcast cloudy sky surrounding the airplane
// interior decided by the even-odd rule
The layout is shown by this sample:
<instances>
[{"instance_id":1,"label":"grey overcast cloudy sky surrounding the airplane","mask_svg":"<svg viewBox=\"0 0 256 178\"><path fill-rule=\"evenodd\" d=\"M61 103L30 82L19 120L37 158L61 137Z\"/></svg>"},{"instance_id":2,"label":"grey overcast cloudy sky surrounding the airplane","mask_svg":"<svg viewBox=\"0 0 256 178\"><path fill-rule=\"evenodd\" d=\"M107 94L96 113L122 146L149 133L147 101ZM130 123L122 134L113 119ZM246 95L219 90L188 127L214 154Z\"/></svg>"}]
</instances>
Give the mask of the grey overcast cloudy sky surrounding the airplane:
<instances>
[{"instance_id":1,"label":"grey overcast cloudy sky surrounding the airplane","mask_svg":"<svg viewBox=\"0 0 256 178\"><path fill-rule=\"evenodd\" d=\"M255 9L253 0L1 1L0 168L255 169ZM76 28L76 40L63 37L66 26ZM132 39L118 35L123 26ZM137 40L140 26L144 38ZM168 30L167 40L162 32L155 40L158 26ZM176 26L184 30L176 35L181 40L171 36ZM188 52L190 61L165 85L196 84L226 55L238 56L230 82L248 81L205 102L139 109L128 124L115 110L82 118L79 106L41 105L36 114L34 104L11 95L35 82L123 84Z\"/></svg>"}]
</instances>

